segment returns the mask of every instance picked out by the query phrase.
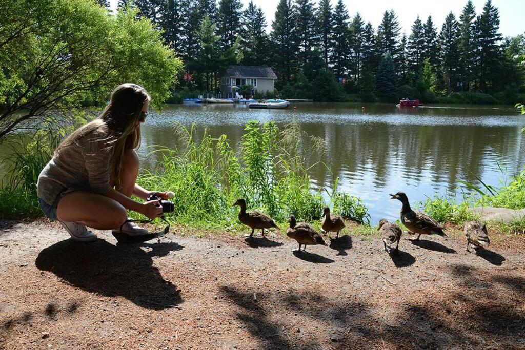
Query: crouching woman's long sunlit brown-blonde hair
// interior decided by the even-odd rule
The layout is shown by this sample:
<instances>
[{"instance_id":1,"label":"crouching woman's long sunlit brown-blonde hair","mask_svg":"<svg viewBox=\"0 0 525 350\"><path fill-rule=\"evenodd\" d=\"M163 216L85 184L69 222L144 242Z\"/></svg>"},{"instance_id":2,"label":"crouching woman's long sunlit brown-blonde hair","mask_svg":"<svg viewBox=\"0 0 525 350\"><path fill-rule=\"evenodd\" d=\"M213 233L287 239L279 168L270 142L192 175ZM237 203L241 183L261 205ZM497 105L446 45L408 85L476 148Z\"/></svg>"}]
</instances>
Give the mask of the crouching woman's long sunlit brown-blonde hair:
<instances>
[{"instance_id":1,"label":"crouching woman's long sunlit brown-blonde hair","mask_svg":"<svg viewBox=\"0 0 525 350\"><path fill-rule=\"evenodd\" d=\"M108 145L106 151L113 151L111 158L111 178L119 188L122 179L122 163L126 150L140 146L139 119L144 103L151 98L146 90L137 84L124 83L111 93L111 99L99 117L81 126L58 146L55 154L68 145L77 143L85 135L95 132L93 137L104 137Z\"/></svg>"}]
</instances>

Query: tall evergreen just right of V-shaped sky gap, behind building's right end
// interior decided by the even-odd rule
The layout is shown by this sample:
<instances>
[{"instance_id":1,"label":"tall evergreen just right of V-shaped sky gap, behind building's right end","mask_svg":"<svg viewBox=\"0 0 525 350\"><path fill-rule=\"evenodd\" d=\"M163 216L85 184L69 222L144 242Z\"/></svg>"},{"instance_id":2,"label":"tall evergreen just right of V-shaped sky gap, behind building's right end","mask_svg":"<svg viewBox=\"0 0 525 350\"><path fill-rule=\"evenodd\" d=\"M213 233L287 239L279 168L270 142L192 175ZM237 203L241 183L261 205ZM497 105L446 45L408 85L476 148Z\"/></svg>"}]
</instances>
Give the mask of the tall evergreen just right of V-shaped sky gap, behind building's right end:
<instances>
[{"instance_id":1,"label":"tall evergreen just right of V-shaped sky gap, behind building's right end","mask_svg":"<svg viewBox=\"0 0 525 350\"><path fill-rule=\"evenodd\" d=\"M279 83L289 83L297 67L297 29L291 0L279 0L271 27L272 61Z\"/></svg>"}]
</instances>

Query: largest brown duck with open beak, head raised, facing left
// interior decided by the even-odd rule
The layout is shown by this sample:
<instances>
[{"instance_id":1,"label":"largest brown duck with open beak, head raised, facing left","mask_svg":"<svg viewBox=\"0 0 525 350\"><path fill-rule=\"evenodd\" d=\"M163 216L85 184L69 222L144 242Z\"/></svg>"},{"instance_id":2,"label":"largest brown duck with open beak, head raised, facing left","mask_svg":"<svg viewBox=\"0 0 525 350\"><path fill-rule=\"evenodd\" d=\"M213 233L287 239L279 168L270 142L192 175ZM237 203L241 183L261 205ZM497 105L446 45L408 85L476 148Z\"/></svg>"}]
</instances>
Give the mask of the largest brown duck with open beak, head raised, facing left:
<instances>
[{"instance_id":1,"label":"largest brown duck with open beak, head raised, facing left","mask_svg":"<svg viewBox=\"0 0 525 350\"><path fill-rule=\"evenodd\" d=\"M391 199L397 199L403 203L403 207L401 208L401 222L408 230L417 234L416 240L418 240L421 235L448 237L447 234L443 232L445 228L439 225L439 222L421 211L412 210L408 203L408 197L403 192L398 192L395 195L391 194L390 196L392 197Z\"/></svg>"}]
</instances>

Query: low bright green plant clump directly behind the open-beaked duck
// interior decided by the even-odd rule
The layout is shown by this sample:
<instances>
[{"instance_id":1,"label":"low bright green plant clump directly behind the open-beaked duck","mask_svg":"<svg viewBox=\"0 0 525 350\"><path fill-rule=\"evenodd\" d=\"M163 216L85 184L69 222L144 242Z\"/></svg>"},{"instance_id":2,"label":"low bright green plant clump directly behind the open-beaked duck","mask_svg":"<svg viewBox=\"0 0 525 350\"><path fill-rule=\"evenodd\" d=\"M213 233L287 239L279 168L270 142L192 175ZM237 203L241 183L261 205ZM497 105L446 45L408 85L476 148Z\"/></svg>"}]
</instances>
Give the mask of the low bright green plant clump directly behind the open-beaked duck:
<instances>
[{"instance_id":1,"label":"low bright green plant clump directly behind the open-beaked duck","mask_svg":"<svg viewBox=\"0 0 525 350\"><path fill-rule=\"evenodd\" d=\"M439 222L453 222L463 225L465 221L475 220L477 216L468 211L469 203L457 203L451 197L434 196L423 201L425 212Z\"/></svg>"}]
</instances>

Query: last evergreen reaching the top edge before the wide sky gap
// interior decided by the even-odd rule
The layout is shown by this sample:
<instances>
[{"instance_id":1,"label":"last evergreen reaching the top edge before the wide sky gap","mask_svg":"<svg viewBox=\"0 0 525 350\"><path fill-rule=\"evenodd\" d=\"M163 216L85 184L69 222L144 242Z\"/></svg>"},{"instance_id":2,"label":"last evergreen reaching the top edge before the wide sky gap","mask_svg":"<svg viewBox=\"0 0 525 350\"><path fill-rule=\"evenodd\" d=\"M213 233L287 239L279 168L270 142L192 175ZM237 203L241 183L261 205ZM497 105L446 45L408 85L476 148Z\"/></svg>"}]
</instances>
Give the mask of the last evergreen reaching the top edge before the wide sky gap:
<instances>
[{"instance_id":1,"label":"last evergreen reaching the top edge before the wide sky gap","mask_svg":"<svg viewBox=\"0 0 525 350\"><path fill-rule=\"evenodd\" d=\"M348 11L342 0L338 0L333 13L333 43L330 62L333 65L335 77L346 73L350 54L350 29L348 26Z\"/></svg>"}]
</instances>

